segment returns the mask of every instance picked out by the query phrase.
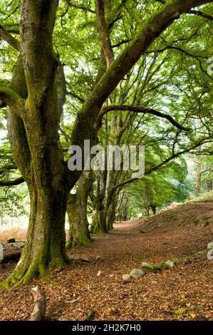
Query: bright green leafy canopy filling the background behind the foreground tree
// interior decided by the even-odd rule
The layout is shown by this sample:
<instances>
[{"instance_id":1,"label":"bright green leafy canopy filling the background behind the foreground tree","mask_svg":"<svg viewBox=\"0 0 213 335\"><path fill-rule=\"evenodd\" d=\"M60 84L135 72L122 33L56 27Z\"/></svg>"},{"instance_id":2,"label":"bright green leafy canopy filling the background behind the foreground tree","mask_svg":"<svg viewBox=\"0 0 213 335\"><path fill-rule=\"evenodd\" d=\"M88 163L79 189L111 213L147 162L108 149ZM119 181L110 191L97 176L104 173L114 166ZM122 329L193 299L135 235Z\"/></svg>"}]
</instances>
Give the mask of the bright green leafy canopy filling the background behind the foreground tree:
<instances>
[{"instance_id":1,"label":"bright green leafy canopy filling the background behind the foreground tree","mask_svg":"<svg viewBox=\"0 0 213 335\"><path fill-rule=\"evenodd\" d=\"M0 4L1 24L17 40L20 4L20 0L1 1ZM159 6L160 2L154 0L111 1L105 20L115 58ZM213 15L211 4L205 5L203 10ZM147 113L136 115L113 111L105 116L103 128L98 133L101 145L145 145L146 175L125 186L130 216L137 216L150 205L162 208L172 201L181 202L193 192L193 182L187 178L187 158L180 158L178 153L189 150L197 153L199 143L212 140L212 78L207 73L207 59L213 54L212 36L211 21L197 15L182 15L152 43L105 101L105 105L137 105L159 110L190 128L189 132L181 131L169 121ZM105 63L100 59L101 43L94 1L59 1L53 44L66 74L67 96L59 134L65 158L68 158L66 150L71 143L73 122L97 76L105 71ZM18 52L1 39L1 85L9 83L17 57ZM5 109L0 112L0 141L0 180L13 180L19 172L9 168L14 161L7 136ZM207 155L203 161L203 169L208 169L202 173L204 191L213 179L212 163L212 156ZM98 176L97 172L95 176ZM112 187L130 178L130 172L110 174ZM118 193L120 190L123 188L118 187ZM1 199L5 201L5 190L1 192ZM14 189L8 192L12 199ZM21 204L21 199L21 195L14 195L15 206L18 202Z\"/></svg>"}]
</instances>

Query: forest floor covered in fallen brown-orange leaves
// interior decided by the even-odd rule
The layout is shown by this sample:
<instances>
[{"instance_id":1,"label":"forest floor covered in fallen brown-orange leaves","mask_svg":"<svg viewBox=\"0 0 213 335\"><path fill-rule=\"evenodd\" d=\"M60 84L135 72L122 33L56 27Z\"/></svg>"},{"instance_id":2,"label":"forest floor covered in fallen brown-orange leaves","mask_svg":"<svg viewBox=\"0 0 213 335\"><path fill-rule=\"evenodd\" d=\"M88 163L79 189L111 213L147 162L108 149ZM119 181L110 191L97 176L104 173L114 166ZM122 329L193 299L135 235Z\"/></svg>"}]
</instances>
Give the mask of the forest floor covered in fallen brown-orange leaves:
<instances>
[{"instance_id":1,"label":"forest floor covered in fallen brown-orange leaves","mask_svg":"<svg viewBox=\"0 0 213 335\"><path fill-rule=\"evenodd\" d=\"M35 279L29 287L1 292L0 320L27 320L33 308L29 288L36 285L46 291L46 320L81 320L88 309L94 311L93 320L213 320L213 261L206 254L130 282L122 278L142 262L187 257L209 242L212 194L149 218L116 222L90 248L69 252L73 262L51 274L55 284ZM15 265L1 264L0 279Z\"/></svg>"}]
</instances>

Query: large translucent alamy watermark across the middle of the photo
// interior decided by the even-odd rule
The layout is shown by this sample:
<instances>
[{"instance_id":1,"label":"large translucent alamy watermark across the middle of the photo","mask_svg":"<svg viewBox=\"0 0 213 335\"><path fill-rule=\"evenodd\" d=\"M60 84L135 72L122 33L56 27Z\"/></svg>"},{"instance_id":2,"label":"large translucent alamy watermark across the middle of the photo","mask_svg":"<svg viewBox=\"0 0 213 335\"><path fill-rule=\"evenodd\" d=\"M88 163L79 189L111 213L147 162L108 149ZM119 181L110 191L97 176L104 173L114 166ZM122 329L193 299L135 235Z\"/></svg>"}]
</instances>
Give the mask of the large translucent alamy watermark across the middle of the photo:
<instances>
[{"instance_id":1,"label":"large translucent alamy watermark across the middle of the photo","mask_svg":"<svg viewBox=\"0 0 213 335\"><path fill-rule=\"evenodd\" d=\"M71 171L133 171L132 178L141 178L145 172L145 148L143 145L93 145L84 140L83 150L79 145L72 145L68 153L68 168ZM93 157L92 157L93 156ZM92 158L91 158L92 157Z\"/></svg>"}]
</instances>

